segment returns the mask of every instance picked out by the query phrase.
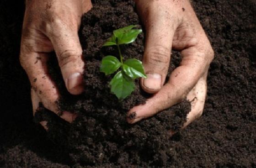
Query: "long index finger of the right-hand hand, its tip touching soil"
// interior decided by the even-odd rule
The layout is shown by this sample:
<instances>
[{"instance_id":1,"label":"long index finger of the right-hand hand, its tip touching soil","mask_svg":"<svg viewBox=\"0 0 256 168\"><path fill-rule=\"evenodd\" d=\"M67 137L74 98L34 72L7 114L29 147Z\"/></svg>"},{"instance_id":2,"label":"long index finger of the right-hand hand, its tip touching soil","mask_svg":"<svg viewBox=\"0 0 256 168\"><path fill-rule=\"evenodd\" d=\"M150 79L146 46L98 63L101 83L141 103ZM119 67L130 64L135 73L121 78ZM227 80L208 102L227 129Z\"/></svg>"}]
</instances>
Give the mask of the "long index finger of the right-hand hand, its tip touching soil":
<instances>
[{"instance_id":1,"label":"long index finger of the right-hand hand, its tip touching soil","mask_svg":"<svg viewBox=\"0 0 256 168\"><path fill-rule=\"evenodd\" d=\"M209 56L207 56L209 54ZM155 115L183 100L198 80L207 72L213 53L201 53L196 47L189 47L181 52L181 65L172 73L167 84L158 93L146 101L146 104L133 107L128 116L133 114L129 123Z\"/></svg>"}]
</instances>

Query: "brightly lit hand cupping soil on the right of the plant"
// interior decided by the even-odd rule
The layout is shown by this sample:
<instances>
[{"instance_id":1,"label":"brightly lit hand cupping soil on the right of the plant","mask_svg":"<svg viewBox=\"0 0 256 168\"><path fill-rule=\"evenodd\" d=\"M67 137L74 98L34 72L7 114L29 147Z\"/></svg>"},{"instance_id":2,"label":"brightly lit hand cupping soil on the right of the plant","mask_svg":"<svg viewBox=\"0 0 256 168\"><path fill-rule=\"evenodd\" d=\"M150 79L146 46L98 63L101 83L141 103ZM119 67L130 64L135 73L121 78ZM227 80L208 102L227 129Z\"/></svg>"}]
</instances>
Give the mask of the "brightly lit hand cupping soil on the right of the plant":
<instances>
[{"instance_id":1,"label":"brightly lit hand cupping soil on the right of the plant","mask_svg":"<svg viewBox=\"0 0 256 168\"><path fill-rule=\"evenodd\" d=\"M207 93L207 73L214 53L189 0L135 0L146 29L143 64L147 79L142 88L154 95L133 107L135 123L187 98L191 111L184 127L202 115ZM181 63L165 84L171 49L181 52Z\"/></svg>"}]
</instances>

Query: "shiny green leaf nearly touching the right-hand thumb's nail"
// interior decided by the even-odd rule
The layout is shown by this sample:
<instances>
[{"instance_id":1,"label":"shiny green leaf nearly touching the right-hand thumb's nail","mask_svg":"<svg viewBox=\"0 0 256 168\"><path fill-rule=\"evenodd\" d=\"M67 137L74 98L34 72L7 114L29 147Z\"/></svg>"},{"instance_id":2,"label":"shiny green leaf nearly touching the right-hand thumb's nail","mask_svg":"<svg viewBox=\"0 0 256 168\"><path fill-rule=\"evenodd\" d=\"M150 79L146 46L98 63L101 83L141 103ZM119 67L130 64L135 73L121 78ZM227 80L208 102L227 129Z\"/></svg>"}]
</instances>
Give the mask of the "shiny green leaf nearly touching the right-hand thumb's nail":
<instances>
[{"instance_id":1,"label":"shiny green leaf nearly touching the right-hand thumb's nail","mask_svg":"<svg viewBox=\"0 0 256 168\"><path fill-rule=\"evenodd\" d=\"M144 73L142 62L138 59L128 59L123 63L123 71L132 79L139 77L147 78Z\"/></svg>"}]
</instances>

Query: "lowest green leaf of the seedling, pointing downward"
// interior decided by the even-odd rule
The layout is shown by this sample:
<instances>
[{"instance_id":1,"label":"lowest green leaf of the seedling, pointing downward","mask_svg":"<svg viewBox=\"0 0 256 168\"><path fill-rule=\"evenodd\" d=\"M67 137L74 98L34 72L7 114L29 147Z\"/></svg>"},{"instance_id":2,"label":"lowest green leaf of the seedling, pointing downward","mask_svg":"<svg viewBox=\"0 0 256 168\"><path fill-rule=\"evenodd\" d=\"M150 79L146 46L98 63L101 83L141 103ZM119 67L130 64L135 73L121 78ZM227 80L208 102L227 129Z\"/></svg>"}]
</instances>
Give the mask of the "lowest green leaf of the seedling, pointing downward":
<instances>
[{"instance_id":1,"label":"lowest green leaf of the seedling, pointing downward","mask_svg":"<svg viewBox=\"0 0 256 168\"><path fill-rule=\"evenodd\" d=\"M117 72L110 82L111 92L117 96L119 100L125 99L135 89L133 80L122 71Z\"/></svg>"}]
</instances>

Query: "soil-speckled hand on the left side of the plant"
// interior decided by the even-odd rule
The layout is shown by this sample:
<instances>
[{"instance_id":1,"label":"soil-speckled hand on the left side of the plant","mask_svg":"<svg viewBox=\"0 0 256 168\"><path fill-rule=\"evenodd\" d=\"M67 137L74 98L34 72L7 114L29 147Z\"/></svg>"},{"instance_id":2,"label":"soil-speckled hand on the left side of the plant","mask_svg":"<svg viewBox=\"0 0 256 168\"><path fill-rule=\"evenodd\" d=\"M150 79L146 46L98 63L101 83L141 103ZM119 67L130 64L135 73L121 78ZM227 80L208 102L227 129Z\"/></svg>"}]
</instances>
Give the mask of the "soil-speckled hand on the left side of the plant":
<instances>
[{"instance_id":1,"label":"soil-speckled hand on the left side of the plant","mask_svg":"<svg viewBox=\"0 0 256 168\"><path fill-rule=\"evenodd\" d=\"M59 92L51 80L47 60L57 54L66 88L71 94L83 91L82 49L78 38L80 19L91 9L91 0L26 0L21 37L21 66L31 83L33 113L39 102L59 114ZM73 121L75 115L64 111L60 116ZM46 122L41 122L45 126Z\"/></svg>"}]
</instances>

